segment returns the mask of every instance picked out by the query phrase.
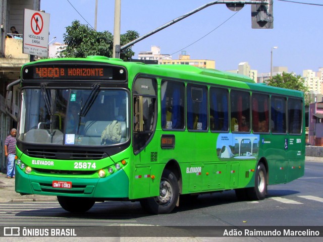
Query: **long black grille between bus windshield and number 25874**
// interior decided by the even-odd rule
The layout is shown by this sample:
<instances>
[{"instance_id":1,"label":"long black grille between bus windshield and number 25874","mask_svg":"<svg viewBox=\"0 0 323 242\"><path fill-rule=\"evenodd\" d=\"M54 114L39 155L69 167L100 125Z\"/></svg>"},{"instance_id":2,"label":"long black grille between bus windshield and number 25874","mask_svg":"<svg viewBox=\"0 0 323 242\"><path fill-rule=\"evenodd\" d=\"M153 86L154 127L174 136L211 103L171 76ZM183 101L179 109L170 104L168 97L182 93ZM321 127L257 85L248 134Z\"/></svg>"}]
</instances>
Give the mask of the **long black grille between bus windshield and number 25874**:
<instances>
[{"instance_id":1,"label":"long black grille between bus windshield and number 25874","mask_svg":"<svg viewBox=\"0 0 323 242\"><path fill-rule=\"evenodd\" d=\"M42 159L61 159L61 160L100 160L107 157L104 152L92 151L69 151L59 150L26 150L26 155Z\"/></svg>"}]
</instances>

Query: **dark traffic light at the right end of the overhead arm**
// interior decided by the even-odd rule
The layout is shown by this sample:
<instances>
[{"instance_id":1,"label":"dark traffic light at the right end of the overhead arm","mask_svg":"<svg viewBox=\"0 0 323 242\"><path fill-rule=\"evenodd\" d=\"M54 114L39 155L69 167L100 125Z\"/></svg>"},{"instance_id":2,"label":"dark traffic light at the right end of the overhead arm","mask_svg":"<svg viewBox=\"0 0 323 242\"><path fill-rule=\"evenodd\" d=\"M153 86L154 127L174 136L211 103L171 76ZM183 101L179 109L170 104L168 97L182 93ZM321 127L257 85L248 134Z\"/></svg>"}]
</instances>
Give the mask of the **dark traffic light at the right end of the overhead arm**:
<instances>
[{"instance_id":1,"label":"dark traffic light at the right end of the overhead arm","mask_svg":"<svg viewBox=\"0 0 323 242\"><path fill-rule=\"evenodd\" d=\"M267 5L251 4L251 28L274 28L273 0L268 0Z\"/></svg>"}]
</instances>

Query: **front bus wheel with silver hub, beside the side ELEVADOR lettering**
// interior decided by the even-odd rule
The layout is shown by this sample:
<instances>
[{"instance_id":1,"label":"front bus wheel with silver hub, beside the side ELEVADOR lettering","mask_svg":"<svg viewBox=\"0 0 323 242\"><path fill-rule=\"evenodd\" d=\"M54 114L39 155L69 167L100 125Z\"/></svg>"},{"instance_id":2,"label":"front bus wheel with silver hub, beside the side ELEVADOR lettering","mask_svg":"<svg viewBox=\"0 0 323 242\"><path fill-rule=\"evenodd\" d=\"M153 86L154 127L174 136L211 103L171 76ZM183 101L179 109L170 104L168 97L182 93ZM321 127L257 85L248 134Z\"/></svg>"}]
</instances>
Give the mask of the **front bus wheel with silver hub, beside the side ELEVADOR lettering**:
<instances>
[{"instance_id":1,"label":"front bus wheel with silver hub, beside the side ELEVADOR lettering","mask_svg":"<svg viewBox=\"0 0 323 242\"><path fill-rule=\"evenodd\" d=\"M173 211L179 197L178 178L165 169L159 184L159 196L142 199L141 206L152 214L167 214Z\"/></svg>"}]
</instances>

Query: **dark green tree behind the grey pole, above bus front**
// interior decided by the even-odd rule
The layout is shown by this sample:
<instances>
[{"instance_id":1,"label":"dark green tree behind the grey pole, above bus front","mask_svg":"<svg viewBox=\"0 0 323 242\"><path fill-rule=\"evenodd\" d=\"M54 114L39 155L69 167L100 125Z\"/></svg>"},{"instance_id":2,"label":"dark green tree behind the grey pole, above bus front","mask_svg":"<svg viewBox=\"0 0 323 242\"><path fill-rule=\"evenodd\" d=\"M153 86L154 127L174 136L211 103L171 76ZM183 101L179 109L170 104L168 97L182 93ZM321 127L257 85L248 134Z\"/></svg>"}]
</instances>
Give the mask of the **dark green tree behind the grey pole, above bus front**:
<instances>
[{"instance_id":1,"label":"dark green tree behind the grey pole, above bus front","mask_svg":"<svg viewBox=\"0 0 323 242\"><path fill-rule=\"evenodd\" d=\"M66 33L63 36L67 47L61 52L61 57L113 56L113 35L109 31L96 32L75 20L71 26L66 27ZM120 44L124 45L138 37L139 34L136 31L128 30L126 34L120 36ZM134 54L130 46L122 50L120 58L128 61Z\"/></svg>"}]
</instances>

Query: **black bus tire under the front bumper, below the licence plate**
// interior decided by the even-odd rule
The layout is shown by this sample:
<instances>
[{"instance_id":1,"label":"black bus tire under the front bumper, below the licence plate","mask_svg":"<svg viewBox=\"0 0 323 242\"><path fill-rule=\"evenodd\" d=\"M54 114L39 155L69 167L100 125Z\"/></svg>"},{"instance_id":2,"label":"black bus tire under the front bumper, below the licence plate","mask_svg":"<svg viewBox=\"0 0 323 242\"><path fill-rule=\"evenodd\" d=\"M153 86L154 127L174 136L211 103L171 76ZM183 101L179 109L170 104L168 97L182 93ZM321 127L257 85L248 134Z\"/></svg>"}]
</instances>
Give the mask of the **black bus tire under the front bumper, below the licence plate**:
<instances>
[{"instance_id":1,"label":"black bus tire under the front bumper, below the licence plate","mask_svg":"<svg viewBox=\"0 0 323 242\"><path fill-rule=\"evenodd\" d=\"M85 213L91 209L95 203L95 201L90 198L57 196L57 200L63 209L71 213Z\"/></svg>"}]
</instances>

